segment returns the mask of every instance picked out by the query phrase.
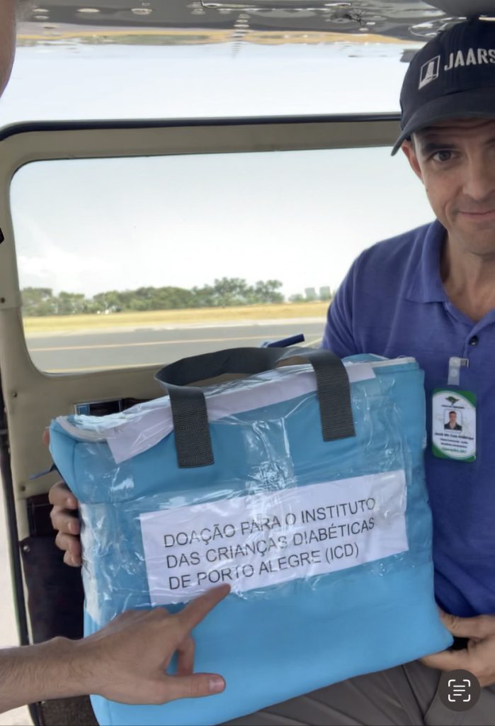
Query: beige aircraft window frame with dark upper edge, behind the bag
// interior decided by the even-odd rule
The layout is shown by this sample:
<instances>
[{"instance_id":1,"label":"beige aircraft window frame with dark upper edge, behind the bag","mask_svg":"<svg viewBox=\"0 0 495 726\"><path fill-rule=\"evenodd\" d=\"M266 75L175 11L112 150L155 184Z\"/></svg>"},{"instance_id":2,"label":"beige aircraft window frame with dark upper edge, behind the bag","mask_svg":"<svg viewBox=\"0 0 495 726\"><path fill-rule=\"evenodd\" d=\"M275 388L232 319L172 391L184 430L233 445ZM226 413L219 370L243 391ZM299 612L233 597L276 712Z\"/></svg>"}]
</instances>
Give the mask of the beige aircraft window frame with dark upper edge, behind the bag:
<instances>
[{"instance_id":1,"label":"beige aircraft window frame with dark upper edge, behind the bag","mask_svg":"<svg viewBox=\"0 0 495 726\"><path fill-rule=\"evenodd\" d=\"M0 465L22 644L30 642L19 551L29 534L25 499L46 492L57 478L30 481L49 458L41 442L42 422L70 411L75 400L120 398L123 390L144 399L162 391L151 375L153 366L50 374L33 364L22 325L9 202L14 174L41 160L392 147L399 131L397 114L43 122L0 129Z\"/></svg>"}]
</instances>

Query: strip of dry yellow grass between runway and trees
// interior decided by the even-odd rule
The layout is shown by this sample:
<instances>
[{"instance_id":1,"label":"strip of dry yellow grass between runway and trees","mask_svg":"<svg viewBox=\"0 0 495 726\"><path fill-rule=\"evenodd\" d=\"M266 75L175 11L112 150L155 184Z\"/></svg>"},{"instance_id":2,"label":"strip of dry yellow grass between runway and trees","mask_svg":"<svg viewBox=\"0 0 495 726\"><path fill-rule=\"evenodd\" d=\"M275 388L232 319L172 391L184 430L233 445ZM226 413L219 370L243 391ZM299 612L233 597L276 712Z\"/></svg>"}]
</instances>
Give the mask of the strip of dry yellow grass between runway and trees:
<instances>
[{"instance_id":1,"label":"strip of dry yellow grass between runway and trees","mask_svg":"<svg viewBox=\"0 0 495 726\"><path fill-rule=\"evenodd\" d=\"M209 325L242 322L320 317L325 319L328 302L283 303L281 305L247 305L233 308L197 308L188 310L154 310L112 313L109 315L54 315L25 317L27 335L67 333L77 330L104 330L115 327L159 327L167 325Z\"/></svg>"}]
</instances>

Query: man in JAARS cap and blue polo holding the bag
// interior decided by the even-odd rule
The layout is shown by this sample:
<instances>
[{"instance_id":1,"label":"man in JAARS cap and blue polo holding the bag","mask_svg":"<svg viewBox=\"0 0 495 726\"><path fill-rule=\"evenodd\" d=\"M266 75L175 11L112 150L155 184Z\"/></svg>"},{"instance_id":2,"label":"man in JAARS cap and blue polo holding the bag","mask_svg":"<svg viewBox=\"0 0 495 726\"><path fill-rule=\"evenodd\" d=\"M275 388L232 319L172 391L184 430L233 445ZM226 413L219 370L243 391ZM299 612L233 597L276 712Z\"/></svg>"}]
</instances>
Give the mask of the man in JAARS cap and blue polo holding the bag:
<instances>
[{"instance_id":1,"label":"man in JAARS cap and blue polo holding the bag","mask_svg":"<svg viewBox=\"0 0 495 726\"><path fill-rule=\"evenodd\" d=\"M429 441L426 475L436 595L452 613L442 615L446 626L466 640L460 650L278 703L237 725L495 725L495 23L460 23L430 41L407 71L401 102L394 152L402 147L437 219L359 256L330 306L323 343L339 356L415 356L428 421L433 391L459 390L449 370L462 359L460 388L478 397L476 458L436 458ZM63 484L51 501L57 543L79 564L77 502ZM441 671L454 669L483 687L464 713L438 695Z\"/></svg>"}]
</instances>

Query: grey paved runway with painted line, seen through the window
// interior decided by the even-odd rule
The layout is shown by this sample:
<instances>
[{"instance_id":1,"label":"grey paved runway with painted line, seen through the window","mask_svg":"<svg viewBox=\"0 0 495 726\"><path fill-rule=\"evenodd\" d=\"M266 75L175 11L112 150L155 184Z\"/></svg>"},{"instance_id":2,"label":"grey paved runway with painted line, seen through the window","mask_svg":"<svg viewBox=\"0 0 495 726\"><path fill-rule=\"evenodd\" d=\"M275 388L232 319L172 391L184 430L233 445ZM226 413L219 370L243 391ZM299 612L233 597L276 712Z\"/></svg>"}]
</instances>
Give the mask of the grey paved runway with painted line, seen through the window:
<instances>
[{"instance_id":1,"label":"grey paved runway with painted line, seen through the window","mask_svg":"<svg viewBox=\"0 0 495 726\"><path fill-rule=\"evenodd\" d=\"M235 325L150 327L81 331L27 338L40 370L65 372L126 366L165 365L186 356L238 346L259 347L303 333L304 345L319 346L324 321L314 318L247 322Z\"/></svg>"}]
</instances>

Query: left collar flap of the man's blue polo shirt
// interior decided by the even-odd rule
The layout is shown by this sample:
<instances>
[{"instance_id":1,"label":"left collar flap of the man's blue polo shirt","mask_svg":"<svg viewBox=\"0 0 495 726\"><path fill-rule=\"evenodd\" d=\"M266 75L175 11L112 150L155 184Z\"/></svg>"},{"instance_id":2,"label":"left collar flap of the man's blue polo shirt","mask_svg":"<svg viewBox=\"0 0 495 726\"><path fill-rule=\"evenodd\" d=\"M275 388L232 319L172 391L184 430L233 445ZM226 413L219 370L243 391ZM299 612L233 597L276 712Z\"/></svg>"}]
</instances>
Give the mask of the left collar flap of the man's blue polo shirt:
<instances>
[{"instance_id":1,"label":"left collar flap of the man's blue polo shirt","mask_svg":"<svg viewBox=\"0 0 495 726\"><path fill-rule=\"evenodd\" d=\"M428 227L420 245L419 260L406 297L415 303L447 302L440 276L440 256L446 230L438 219Z\"/></svg>"}]
</instances>

